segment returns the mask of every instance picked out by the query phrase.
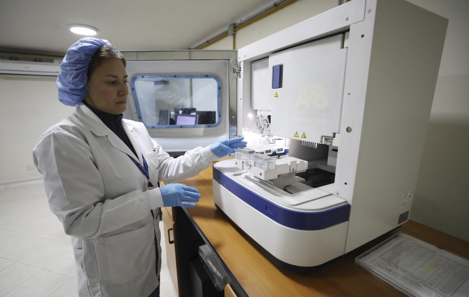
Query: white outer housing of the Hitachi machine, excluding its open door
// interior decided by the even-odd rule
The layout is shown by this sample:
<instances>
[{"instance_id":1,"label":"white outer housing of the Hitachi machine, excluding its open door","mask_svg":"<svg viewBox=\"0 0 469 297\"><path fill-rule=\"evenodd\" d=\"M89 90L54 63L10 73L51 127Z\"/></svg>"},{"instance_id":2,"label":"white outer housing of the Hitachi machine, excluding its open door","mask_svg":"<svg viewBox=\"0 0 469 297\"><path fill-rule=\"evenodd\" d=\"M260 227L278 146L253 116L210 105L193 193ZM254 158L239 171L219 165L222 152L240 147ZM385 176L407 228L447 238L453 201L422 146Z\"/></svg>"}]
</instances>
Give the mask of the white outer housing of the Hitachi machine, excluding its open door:
<instances>
[{"instance_id":1,"label":"white outer housing of the Hitachi machine, excluding its open door","mask_svg":"<svg viewBox=\"0 0 469 297\"><path fill-rule=\"evenodd\" d=\"M335 177L291 194L221 161L215 204L294 267L320 265L407 221L447 24L405 0L352 0L239 49L238 134L254 107L271 110L272 133L290 143L289 154L311 165L305 148L328 145L328 160L314 166ZM338 209L341 219L320 227L320 216ZM269 215L277 210L319 223L283 224Z\"/></svg>"}]
</instances>

